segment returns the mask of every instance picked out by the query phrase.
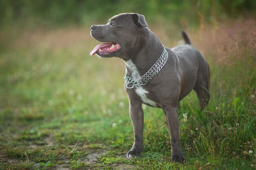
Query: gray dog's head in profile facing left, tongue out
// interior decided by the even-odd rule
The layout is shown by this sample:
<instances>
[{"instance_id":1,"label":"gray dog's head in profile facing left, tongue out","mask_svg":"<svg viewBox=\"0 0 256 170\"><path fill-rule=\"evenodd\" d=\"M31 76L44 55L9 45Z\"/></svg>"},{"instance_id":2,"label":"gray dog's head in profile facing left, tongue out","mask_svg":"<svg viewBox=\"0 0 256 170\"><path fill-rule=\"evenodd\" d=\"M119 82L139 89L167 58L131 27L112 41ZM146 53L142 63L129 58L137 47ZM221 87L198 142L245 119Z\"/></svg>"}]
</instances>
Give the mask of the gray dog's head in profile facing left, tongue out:
<instances>
[{"instance_id":1,"label":"gray dog's head in profile facing left, tongue out","mask_svg":"<svg viewBox=\"0 0 256 170\"><path fill-rule=\"evenodd\" d=\"M146 26L145 17L137 13L121 13L110 18L105 25L92 25L92 38L104 43L95 46L90 55L96 53L100 57L128 59L140 31Z\"/></svg>"}]
</instances>

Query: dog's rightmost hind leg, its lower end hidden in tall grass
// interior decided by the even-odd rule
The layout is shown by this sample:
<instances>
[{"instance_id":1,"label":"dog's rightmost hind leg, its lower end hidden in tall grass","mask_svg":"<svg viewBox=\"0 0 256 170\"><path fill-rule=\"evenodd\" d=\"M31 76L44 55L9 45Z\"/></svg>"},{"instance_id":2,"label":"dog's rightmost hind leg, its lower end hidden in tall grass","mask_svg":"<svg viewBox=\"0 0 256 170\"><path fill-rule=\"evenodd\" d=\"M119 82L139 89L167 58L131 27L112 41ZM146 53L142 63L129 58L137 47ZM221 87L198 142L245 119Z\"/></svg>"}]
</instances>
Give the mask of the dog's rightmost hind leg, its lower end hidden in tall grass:
<instances>
[{"instance_id":1,"label":"dog's rightmost hind leg, its lower end hidden in tall grass","mask_svg":"<svg viewBox=\"0 0 256 170\"><path fill-rule=\"evenodd\" d=\"M207 106L210 99L209 87L210 87L210 73L209 65L204 71L198 71L197 81L194 86L194 90L199 99L200 110Z\"/></svg>"}]
</instances>

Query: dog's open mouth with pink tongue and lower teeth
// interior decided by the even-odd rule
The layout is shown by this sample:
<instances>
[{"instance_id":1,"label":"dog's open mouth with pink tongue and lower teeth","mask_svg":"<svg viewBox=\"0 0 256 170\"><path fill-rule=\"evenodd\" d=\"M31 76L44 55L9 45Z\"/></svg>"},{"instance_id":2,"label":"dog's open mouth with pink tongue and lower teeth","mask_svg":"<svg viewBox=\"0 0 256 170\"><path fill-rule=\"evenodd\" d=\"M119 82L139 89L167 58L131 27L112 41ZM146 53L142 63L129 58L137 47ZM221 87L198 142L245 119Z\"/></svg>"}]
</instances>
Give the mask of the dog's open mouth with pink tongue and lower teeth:
<instances>
[{"instance_id":1,"label":"dog's open mouth with pink tongue and lower teeth","mask_svg":"<svg viewBox=\"0 0 256 170\"><path fill-rule=\"evenodd\" d=\"M94 49L90 52L90 55L94 55L95 53L99 55L106 55L109 53L117 52L121 49L121 45L115 42L106 42L103 44L99 44L94 47Z\"/></svg>"}]
</instances>

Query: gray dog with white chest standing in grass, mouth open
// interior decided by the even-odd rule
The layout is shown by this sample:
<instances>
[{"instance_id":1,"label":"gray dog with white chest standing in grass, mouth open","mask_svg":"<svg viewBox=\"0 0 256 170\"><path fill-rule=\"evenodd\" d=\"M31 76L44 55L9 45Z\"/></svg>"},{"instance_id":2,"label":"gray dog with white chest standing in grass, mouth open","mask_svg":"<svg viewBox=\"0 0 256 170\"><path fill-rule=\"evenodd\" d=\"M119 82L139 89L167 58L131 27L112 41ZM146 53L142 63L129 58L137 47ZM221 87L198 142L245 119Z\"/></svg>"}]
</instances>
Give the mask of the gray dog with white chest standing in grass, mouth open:
<instances>
[{"instance_id":1,"label":"gray dog with white chest standing in grass, mouth open","mask_svg":"<svg viewBox=\"0 0 256 170\"><path fill-rule=\"evenodd\" d=\"M119 57L126 64L125 91L134 131L134 143L126 158L139 157L142 152L144 113L141 104L162 108L171 137L171 160L183 162L177 108L179 101L193 89L201 110L209 102L209 65L200 51L186 45L164 47L148 29L143 15L122 13L106 25L92 25L92 38L106 42L95 46L90 55Z\"/></svg>"}]
</instances>

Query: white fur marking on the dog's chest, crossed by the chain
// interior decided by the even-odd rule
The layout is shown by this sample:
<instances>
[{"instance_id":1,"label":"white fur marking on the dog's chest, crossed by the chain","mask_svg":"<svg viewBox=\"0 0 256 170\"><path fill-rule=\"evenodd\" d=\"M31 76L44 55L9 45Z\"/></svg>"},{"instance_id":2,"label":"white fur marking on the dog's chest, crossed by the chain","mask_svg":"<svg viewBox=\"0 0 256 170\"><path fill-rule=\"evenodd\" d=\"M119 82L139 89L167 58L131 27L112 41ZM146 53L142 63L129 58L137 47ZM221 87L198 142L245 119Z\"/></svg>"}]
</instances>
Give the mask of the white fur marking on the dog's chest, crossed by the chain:
<instances>
[{"instance_id":1,"label":"white fur marking on the dog's chest, crossed by the chain","mask_svg":"<svg viewBox=\"0 0 256 170\"><path fill-rule=\"evenodd\" d=\"M139 71L135 64L133 64L132 60L128 60L125 63L131 71L132 78L135 80L139 80L141 76L139 75ZM137 95L139 95L144 104L149 104L150 106L157 107L157 104L155 102L147 98L146 94L148 93L148 91L146 91L142 86L136 87L135 92L137 93Z\"/></svg>"}]
</instances>

